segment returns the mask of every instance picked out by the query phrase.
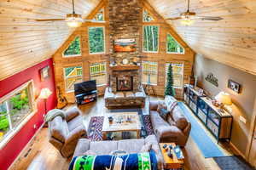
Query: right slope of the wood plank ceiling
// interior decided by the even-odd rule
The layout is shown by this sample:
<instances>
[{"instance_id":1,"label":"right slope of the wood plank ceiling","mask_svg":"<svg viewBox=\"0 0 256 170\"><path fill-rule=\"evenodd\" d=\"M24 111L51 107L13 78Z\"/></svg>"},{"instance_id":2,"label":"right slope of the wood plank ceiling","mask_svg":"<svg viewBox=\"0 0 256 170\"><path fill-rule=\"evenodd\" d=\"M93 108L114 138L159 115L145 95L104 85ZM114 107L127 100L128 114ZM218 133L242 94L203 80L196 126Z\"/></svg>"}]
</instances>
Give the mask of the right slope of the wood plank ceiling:
<instances>
[{"instance_id":1,"label":"right slope of the wood plank ceiling","mask_svg":"<svg viewBox=\"0 0 256 170\"><path fill-rule=\"evenodd\" d=\"M186 11L187 0L148 0L163 18ZM218 22L197 20L192 26L168 21L197 54L256 75L256 1L190 0L191 11L221 16Z\"/></svg>"}]
</instances>

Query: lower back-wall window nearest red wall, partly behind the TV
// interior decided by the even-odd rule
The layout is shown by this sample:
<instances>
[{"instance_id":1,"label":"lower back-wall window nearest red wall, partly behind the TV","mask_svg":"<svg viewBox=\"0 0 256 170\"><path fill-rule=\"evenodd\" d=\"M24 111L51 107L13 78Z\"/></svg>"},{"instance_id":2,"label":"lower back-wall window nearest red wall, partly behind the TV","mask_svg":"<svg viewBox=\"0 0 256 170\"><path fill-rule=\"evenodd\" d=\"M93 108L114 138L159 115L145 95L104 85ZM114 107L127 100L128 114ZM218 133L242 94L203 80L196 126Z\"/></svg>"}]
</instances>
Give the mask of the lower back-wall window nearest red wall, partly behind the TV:
<instances>
[{"instance_id":1,"label":"lower back-wall window nearest red wall, partly behind the TV","mask_svg":"<svg viewBox=\"0 0 256 170\"><path fill-rule=\"evenodd\" d=\"M66 92L73 92L73 85L83 81L82 72L82 66L64 68Z\"/></svg>"}]
</instances>

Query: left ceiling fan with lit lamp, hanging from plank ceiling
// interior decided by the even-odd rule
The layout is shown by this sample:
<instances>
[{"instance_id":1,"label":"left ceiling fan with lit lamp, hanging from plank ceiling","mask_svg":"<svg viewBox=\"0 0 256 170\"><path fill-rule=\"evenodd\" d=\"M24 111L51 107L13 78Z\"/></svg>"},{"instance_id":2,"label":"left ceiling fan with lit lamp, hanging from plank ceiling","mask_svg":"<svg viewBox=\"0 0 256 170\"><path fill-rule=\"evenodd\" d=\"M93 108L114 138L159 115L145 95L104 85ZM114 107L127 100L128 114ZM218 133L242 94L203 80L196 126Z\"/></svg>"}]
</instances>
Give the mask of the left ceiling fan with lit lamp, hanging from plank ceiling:
<instances>
[{"instance_id":1,"label":"left ceiling fan with lit lamp, hanging from plank ceiling","mask_svg":"<svg viewBox=\"0 0 256 170\"><path fill-rule=\"evenodd\" d=\"M70 27L79 27L83 22L96 22L96 23L105 23L103 20L84 20L82 19L81 14L76 14L74 9L74 2L72 0L73 4L73 13L67 14L65 19L38 19L36 21L58 21L58 20L65 20L67 22L67 26Z\"/></svg>"}]
</instances>

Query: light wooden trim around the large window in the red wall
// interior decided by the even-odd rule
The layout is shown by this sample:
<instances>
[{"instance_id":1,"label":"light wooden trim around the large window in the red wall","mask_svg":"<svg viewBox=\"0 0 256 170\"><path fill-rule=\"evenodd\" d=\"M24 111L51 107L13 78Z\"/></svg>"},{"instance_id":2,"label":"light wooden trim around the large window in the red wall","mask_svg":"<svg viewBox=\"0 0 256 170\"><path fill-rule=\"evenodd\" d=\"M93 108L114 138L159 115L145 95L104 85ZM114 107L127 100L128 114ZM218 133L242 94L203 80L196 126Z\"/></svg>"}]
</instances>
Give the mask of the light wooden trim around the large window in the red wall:
<instances>
[{"instance_id":1,"label":"light wooden trim around the large window in the red wall","mask_svg":"<svg viewBox=\"0 0 256 170\"><path fill-rule=\"evenodd\" d=\"M28 88L28 90L30 91L29 98L31 99L32 111L30 113L28 113L28 115L26 117L24 117L24 119L20 122L20 124L17 127L13 127L13 129L11 129L11 132L8 134L8 136L0 142L0 150L2 150L3 147L6 144L8 144L9 141L11 139L13 139L17 133L20 132L21 128L26 125L26 122L28 122L32 118L32 116L34 116L38 112L38 107L36 105L37 102L35 100L35 88L34 88L33 80L25 82L24 84L20 85L20 87L15 88L9 94L4 95L3 98L0 99L0 103L13 97L15 94L20 93L20 91L25 88Z\"/></svg>"}]
</instances>

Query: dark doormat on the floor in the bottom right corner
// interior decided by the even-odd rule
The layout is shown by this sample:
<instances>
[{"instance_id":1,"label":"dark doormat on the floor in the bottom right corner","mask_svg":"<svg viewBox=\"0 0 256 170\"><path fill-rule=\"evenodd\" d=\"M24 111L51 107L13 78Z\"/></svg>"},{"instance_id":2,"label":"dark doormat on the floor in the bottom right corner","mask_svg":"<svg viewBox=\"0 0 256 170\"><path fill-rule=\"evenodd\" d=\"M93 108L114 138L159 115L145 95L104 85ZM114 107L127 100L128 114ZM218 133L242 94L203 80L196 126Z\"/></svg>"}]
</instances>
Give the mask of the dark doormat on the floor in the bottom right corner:
<instances>
[{"instance_id":1,"label":"dark doormat on the floor in the bottom right corner","mask_svg":"<svg viewBox=\"0 0 256 170\"><path fill-rule=\"evenodd\" d=\"M222 170L255 170L241 156L221 156L213 159Z\"/></svg>"}]
</instances>

